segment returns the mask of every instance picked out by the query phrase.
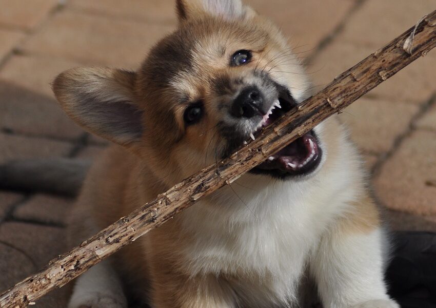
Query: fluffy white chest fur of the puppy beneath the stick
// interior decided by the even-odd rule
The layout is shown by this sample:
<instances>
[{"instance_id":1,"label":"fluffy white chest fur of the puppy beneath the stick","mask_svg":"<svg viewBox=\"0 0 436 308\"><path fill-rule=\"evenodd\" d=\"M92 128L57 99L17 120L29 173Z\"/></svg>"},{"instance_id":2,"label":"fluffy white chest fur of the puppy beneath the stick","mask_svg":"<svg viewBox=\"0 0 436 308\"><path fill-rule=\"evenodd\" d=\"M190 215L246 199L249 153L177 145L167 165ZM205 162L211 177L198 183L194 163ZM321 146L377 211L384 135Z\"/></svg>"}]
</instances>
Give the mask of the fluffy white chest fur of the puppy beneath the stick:
<instances>
[{"instance_id":1,"label":"fluffy white chest fur of the puppy beneath the stick","mask_svg":"<svg viewBox=\"0 0 436 308\"><path fill-rule=\"evenodd\" d=\"M312 248L355 194L350 178L322 168L301 182L245 175L224 187L183 214L189 272L242 273L273 297L295 297Z\"/></svg>"}]
</instances>

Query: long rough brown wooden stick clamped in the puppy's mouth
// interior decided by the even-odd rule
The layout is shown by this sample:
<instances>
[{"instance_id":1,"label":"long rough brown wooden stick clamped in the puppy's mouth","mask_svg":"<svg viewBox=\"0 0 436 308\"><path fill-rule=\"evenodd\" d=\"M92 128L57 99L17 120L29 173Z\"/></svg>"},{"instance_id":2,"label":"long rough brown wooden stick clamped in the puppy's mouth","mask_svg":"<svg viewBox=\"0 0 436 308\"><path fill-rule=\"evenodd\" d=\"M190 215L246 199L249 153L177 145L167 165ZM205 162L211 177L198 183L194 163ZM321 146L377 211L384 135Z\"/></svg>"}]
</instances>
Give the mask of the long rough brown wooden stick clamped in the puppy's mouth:
<instances>
[{"instance_id":1,"label":"long rough brown wooden stick clamped in the puppy's mouth","mask_svg":"<svg viewBox=\"0 0 436 308\"><path fill-rule=\"evenodd\" d=\"M26 307L53 288L61 287L92 265L160 226L196 200L232 183L255 165L302 136L314 126L360 98L436 46L436 11L385 47L334 79L324 90L304 101L265 129L260 137L231 157L211 165L175 185L129 216L121 218L46 269L0 295L0 307Z\"/></svg>"}]
</instances>

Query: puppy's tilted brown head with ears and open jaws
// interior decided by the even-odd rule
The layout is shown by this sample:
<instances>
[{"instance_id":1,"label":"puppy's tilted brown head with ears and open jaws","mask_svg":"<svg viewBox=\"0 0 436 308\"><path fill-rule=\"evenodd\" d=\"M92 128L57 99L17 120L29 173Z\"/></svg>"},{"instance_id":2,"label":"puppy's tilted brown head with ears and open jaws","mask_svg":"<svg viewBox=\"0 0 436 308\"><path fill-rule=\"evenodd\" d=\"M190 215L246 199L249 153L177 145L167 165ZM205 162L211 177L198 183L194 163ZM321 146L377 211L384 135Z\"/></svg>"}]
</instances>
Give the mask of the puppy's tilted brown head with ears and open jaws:
<instances>
[{"instance_id":1,"label":"puppy's tilted brown head with ears and open jaws","mask_svg":"<svg viewBox=\"0 0 436 308\"><path fill-rule=\"evenodd\" d=\"M74 69L55 80L66 112L176 180L220 160L309 96L278 28L239 0L179 0L179 28L136 72ZM309 175L322 150L306 134L252 172Z\"/></svg>"}]
</instances>

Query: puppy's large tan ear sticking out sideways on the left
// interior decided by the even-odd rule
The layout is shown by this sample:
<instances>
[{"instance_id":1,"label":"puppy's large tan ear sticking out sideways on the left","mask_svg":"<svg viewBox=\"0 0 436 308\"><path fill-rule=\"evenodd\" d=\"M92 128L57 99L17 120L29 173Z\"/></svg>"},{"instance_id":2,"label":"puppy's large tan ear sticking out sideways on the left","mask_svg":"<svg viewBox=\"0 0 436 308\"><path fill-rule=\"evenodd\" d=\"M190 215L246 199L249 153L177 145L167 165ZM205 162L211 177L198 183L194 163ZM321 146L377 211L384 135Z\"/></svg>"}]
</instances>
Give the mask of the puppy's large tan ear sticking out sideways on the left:
<instances>
[{"instance_id":1,"label":"puppy's large tan ear sticking out sideways on the left","mask_svg":"<svg viewBox=\"0 0 436 308\"><path fill-rule=\"evenodd\" d=\"M64 111L89 132L129 146L140 140L143 112L134 103L135 73L74 68L61 73L53 91Z\"/></svg>"}]
</instances>

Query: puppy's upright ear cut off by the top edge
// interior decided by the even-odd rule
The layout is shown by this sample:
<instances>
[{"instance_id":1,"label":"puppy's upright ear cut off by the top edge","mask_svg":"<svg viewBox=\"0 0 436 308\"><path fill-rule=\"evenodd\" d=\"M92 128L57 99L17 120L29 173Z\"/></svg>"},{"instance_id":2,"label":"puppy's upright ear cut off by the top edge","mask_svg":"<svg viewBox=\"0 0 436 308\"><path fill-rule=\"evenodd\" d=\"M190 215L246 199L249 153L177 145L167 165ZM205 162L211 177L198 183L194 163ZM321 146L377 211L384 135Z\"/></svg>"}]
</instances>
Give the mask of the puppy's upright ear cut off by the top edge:
<instances>
[{"instance_id":1,"label":"puppy's upright ear cut off by the top edge","mask_svg":"<svg viewBox=\"0 0 436 308\"><path fill-rule=\"evenodd\" d=\"M176 8L180 22L204 14L220 16L229 20L255 14L241 0L176 0Z\"/></svg>"}]
</instances>

